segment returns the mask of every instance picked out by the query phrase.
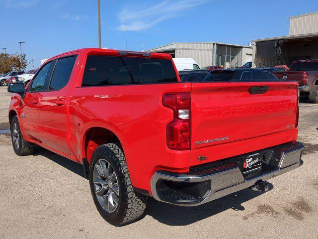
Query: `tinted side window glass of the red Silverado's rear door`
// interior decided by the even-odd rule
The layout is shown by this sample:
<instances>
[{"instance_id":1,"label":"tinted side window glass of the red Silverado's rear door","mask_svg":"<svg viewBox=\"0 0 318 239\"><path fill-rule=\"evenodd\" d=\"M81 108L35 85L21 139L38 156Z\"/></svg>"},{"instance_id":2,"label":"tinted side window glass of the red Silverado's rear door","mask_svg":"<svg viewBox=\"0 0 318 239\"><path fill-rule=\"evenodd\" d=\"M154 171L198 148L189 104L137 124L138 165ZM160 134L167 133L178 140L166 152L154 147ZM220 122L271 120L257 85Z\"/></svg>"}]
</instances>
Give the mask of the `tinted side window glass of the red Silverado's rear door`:
<instances>
[{"instance_id":1,"label":"tinted side window glass of the red Silverado's rear door","mask_svg":"<svg viewBox=\"0 0 318 239\"><path fill-rule=\"evenodd\" d=\"M59 59L55 65L49 90L59 90L68 84L76 56Z\"/></svg>"}]
</instances>

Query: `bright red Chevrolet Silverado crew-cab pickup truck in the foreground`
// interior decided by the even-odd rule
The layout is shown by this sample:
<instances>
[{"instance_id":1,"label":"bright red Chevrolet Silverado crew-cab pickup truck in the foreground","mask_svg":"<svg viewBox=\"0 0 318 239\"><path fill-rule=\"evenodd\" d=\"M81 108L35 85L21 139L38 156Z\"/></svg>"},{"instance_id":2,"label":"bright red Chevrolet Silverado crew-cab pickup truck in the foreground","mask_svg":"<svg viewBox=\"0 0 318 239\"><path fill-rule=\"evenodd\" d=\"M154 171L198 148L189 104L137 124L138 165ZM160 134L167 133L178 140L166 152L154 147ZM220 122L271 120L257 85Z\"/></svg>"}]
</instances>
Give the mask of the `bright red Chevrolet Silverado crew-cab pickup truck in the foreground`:
<instances>
[{"instance_id":1,"label":"bright red Chevrolet Silverado crew-cab pickup truck in the foreground","mask_svg":"<svg viewBox=\"0 0 318 239\"><path fill-rule=\"evenodd\" d=\"M13 150L39 145L82 164L97 210L119 226L148 197L195 206L266 191L267 179L298 168L297 87L181 82L168 54L75 50L47 60L26 88L8 85Z\"/></svg>"}]
</instances>

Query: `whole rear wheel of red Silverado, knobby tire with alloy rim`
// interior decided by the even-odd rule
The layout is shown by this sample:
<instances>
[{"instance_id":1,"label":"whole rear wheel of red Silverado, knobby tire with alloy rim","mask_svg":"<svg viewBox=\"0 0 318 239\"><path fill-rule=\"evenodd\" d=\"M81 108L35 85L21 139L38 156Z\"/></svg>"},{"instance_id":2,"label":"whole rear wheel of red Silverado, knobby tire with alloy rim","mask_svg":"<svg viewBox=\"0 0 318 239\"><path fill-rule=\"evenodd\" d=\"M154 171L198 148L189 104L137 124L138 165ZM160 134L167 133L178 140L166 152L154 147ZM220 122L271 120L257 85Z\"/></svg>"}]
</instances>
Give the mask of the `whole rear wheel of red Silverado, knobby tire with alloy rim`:
<instances>
[{"instance_id":1,"label":"whole rear wheel of red Silverado, knobby tire with alloy rim","mask_svg":"<svg viewBox=\"0 0 318 239\"><path fill-rule=\"evenodd\" d=\"M119 144L107 143L95 149L89 184L95 206L108 223L121 226L143 215L148 197L134 192Z\"/></svg>"}]
</instances>

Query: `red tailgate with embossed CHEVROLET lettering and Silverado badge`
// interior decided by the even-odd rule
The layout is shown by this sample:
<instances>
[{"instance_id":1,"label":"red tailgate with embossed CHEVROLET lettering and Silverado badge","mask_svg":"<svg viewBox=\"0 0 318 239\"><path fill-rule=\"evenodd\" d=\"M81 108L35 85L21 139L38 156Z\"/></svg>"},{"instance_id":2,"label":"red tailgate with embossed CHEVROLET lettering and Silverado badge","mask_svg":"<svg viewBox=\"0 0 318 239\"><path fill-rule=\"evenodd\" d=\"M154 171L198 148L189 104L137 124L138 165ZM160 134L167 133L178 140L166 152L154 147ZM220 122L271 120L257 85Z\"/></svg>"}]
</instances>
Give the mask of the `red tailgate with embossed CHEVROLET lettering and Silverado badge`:
<instances>
[{"instance_id":1,"label":"red tailgate with embossed CHEVROLET lettering and Silverado badge","mask_svg":"<svg viewBox=\"0 0 318 239\"><path fill-rule=\"evenodd\" d=\"M263 94L252 87L268 86ZM296 140L296 82L193 83L191 165Z\"/></svg>"}]
</instances>

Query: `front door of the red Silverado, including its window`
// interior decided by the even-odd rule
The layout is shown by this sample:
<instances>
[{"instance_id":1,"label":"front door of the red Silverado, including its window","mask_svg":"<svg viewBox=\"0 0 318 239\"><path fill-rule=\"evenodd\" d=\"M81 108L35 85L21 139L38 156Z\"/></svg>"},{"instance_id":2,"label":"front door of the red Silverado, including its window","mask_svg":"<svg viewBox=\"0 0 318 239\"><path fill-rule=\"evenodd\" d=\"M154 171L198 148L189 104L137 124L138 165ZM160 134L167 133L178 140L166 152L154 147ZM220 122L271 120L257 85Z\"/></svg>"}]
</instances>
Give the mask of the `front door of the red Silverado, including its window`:
<instances>
[{"instance_id":1,"label":"front door of the red Silverado, including its window","mask_svg":"<svg viewBox=\"0 0 318 239\"><path fill-rule=\"evenodd\" d=\"M21 108L21 122L26 137L42 143L40 139L39 98L44 91L44 85L52 63L41 68L28 88Z\"/></svg>"}]
</instances>

